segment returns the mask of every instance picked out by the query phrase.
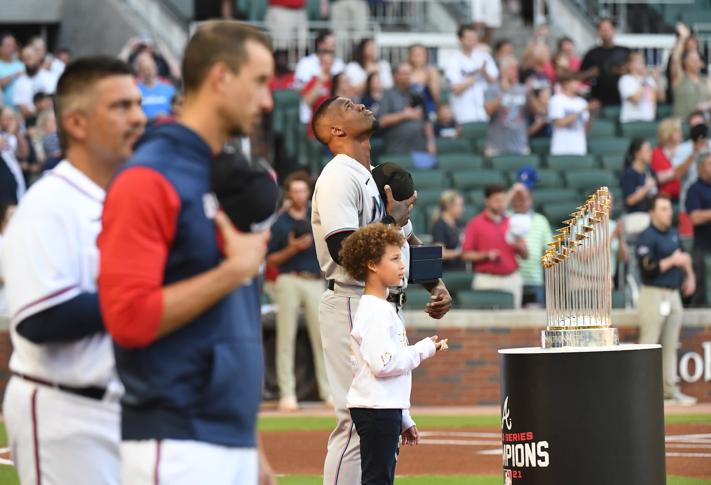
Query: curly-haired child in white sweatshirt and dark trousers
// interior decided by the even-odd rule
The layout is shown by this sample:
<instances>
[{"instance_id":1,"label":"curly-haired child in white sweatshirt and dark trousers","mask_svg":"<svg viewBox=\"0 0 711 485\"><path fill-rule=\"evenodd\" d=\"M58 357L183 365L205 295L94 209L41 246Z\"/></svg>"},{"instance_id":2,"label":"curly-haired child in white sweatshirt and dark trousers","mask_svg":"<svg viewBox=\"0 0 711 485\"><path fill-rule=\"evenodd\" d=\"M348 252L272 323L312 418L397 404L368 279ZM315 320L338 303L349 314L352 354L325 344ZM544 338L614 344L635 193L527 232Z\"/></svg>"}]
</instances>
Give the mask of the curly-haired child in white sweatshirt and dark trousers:
<instances>
[{"instance_id":1,"label":"curly-haired child in white sweatshirt and dark trousers","mask_svg":"<svg viewBox=\"0 0 711 485\"><path fill-rule=\"evenodd\" d=\"M437 335L410 345L402 320L387 302L388 287L405 276L400 256L405 236L392 225L374 223L343 241L341 265L355 281L365 282L351 330L353 382L346 396L360 436L363 484L392 484L403 444L419 444L410 417L412 369L437 351L447 351L447 339Z\"/></svg>"}]
</instances>

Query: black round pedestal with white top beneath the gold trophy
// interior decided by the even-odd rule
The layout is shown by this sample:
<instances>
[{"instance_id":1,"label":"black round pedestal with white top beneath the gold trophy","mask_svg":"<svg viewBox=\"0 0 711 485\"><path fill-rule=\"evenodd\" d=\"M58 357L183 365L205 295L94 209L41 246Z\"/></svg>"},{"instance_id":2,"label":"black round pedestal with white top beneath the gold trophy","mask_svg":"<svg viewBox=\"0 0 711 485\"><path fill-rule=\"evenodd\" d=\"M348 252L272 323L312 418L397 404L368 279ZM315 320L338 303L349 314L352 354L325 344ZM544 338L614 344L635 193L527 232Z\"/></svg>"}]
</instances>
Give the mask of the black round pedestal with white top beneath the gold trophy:
<instances>
[{"instance_id":1,"label":"black round pedestal with white top beneath the gold trophy","mask_svg":"<svg viewBox=\"0 0 711 485\"><path fill-rule=\"evenodd\" d=\"M661 346L498 352L505 485L666 484Z\"/></svg>"}]
</instances>

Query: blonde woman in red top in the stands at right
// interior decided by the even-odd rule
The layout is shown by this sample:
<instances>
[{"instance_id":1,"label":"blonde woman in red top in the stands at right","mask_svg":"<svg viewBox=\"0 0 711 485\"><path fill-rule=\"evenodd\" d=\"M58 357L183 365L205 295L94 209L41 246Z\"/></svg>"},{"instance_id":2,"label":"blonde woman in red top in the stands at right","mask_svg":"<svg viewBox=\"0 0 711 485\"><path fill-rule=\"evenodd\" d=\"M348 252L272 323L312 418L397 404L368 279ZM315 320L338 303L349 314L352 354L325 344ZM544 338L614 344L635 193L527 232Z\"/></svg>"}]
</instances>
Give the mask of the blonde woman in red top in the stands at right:
<instances>
[{"instance_id":1,"label":"blonde woman in red top in the stands at right","mask_svg":"<svg viewBox=\"0 0 711 485\"><path fill-rule=\"evenodd\" d=\"M682 138L681 120L663 119L657 129L657 146L652 151L650 163L651 169L656 172L659 179L659 192L666 194L674 202L679 200L682 174L678 169L673 168L671 161Z\"/></svg>"}]
</instances>

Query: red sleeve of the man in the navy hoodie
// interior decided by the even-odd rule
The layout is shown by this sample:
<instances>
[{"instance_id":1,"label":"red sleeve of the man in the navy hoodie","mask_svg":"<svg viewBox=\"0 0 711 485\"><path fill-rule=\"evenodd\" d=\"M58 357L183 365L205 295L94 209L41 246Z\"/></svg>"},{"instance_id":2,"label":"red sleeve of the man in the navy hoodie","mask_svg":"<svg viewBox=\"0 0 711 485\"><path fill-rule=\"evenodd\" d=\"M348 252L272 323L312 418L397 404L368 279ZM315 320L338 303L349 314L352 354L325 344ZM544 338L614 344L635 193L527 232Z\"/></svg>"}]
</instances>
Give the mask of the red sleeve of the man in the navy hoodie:
<instances>
[{"instance_id":1,"label":"red sleeve of the man in the navy hoodie","mask_svg":"<svg viewBox=\"0 0 711 485\"><path fill-rule=\"evenodd\" d=\"M153 169L127 169L109 187L97 239L99 303L119 346L141 348L156 340L180 208L175 188Z\"/></svg>"}]
</instances>

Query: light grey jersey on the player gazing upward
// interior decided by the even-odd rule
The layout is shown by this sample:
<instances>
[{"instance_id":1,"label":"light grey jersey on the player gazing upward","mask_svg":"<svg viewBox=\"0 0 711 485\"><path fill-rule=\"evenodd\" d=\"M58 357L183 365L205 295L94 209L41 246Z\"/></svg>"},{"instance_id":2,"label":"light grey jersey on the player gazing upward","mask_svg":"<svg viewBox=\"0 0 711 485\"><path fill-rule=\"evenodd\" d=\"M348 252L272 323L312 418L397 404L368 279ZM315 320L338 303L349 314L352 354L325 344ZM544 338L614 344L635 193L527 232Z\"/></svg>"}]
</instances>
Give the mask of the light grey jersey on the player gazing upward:
<instances>
[{"instance_id":1,"label":"light grey jersey on the player gazing upward","mask_svg":"<svg viewBox=\"0 0 711 485\"><path fill-rule=\"evenodd\" d=\"M372 167L371 167L372 169ZM370 171L348 155L338 154L328 162L314 188L311 208L311 225L314 230L316 255L326 279L337 283L365 287L348 277L346 270L338 265L328 252L326 240L332 235L377 222L385 217L385 202L380 197ZM402 232L406 238L412 235L412 223L407 222ZM398 289L407 287L410 272L410 245L402 247L402 262L405 278Z\"/></svg>"}]
</instances>

